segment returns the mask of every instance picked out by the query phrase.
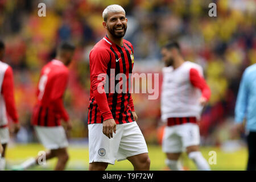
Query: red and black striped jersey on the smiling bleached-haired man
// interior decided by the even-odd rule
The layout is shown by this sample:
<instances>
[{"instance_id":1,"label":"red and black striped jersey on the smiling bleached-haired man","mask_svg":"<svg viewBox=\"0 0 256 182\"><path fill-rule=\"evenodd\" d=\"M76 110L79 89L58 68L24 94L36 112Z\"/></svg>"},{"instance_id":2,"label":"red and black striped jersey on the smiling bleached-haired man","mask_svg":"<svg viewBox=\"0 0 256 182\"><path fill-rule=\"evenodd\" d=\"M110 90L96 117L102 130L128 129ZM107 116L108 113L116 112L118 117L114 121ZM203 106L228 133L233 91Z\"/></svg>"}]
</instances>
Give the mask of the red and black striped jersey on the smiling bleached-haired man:
<instances>
[{"instance_id":1,"label":"red and black striped jersey on the smiling bleached-haired man","mask_svg":"<svg viewBox=\"0 0 256 182\"><path fill-rule=\"evenodd\" d=\"M125 39L123 39L123 46L120 47L105 36L93 47L90 51L88 124L102 123L111 118L114 118L117 124L134 121L133 99L129 92L131 88L129 73L133 71L133 64L133 46ZM119 73L124 73L126 77L118 78ZM102 80L98 78L99 76ZM108 86L106 86L107 76ZM102 89L103 93L98 92L98 88ZM117 92L115 88L122 89L122 92Z\"/></svg>"}]
</instances>

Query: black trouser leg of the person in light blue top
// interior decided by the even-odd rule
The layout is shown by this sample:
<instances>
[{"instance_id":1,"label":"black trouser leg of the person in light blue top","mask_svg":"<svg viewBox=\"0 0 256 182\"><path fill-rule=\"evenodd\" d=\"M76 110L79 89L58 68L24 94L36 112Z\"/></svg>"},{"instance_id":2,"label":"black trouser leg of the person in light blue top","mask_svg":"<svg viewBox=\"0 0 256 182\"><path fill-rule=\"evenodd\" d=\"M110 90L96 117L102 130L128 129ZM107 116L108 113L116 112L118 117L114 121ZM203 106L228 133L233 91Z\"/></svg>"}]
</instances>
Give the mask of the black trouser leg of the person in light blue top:
<instances>
[{"instance_id":1,"label":"black trouser leg of the person in light blue top","mask_svg":"<svg viewBox=\"0 0 256 182\"><path fill-rule=\"evenodd\" d=\"M247 136L248 145L248 163L247 171L255 171L256 169L256 132L251 132Z\"/></svg>"}]
</instances>

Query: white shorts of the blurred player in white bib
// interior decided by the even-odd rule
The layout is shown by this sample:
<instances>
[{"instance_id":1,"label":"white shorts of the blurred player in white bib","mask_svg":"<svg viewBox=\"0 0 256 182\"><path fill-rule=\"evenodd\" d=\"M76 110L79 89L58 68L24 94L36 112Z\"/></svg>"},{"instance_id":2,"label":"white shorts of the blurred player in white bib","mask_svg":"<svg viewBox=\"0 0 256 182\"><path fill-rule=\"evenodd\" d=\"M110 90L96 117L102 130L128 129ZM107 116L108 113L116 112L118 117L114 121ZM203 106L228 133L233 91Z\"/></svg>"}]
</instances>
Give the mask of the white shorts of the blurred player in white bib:
<instances>
[{"instance_id":1,"label":"white shorts of the blurred player in white bib","mask_svg":"<svg viewBox=\"0 0 256 182\"><path fill-rule=\"evenodd\" d=\"M199 126L195 123L166 126L163 134L163 152L179 153L189 146L200 144Z\"/></svg>"}]
</instances>

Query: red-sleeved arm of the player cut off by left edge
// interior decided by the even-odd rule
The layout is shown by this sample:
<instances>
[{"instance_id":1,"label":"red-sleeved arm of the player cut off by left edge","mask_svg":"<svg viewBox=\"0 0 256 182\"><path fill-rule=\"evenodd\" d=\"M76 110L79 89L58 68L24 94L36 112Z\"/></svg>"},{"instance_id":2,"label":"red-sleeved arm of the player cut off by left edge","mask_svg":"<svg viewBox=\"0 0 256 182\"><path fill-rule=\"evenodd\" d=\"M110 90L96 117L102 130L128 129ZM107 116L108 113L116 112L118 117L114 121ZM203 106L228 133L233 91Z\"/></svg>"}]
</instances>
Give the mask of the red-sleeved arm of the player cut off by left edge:
<instances>
[{"instance_id":1,"label":"red-sleeved arm of the player cut off by left edge","mask_svg":"<svg viewBox=\"0 0 256 182\"><path fill-rule=\"evenodd\" d=\"M13 69L11 67L6 69L2 84L2 94L5 99L7 114L11 117L14 123L19 123L14 101Z\"/></svg>"}]
</instances>

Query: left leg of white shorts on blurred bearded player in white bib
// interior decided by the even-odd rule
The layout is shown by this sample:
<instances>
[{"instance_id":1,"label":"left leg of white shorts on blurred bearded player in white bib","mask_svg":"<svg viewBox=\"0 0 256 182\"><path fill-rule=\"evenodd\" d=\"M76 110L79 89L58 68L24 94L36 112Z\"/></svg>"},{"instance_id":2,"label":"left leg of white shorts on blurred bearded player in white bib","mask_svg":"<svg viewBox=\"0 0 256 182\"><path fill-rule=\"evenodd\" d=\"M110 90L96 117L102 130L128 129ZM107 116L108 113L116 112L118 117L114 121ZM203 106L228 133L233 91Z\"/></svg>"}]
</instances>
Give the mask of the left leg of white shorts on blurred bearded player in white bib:
<instances>
[{"instance_id":1,"label":"left leg of white shorts on blurred bearded player in white bib","mask_svg":"<svg viewBox=\"0 0 256 182\"><path fill-rule=\"evenodd\" d=\"M181 138L176 134L176 129L176 126L167 126L164 129L162 150L166 154L179 154L183 150Z\"/></svg>"}]
</instances>

